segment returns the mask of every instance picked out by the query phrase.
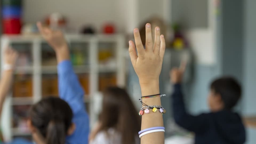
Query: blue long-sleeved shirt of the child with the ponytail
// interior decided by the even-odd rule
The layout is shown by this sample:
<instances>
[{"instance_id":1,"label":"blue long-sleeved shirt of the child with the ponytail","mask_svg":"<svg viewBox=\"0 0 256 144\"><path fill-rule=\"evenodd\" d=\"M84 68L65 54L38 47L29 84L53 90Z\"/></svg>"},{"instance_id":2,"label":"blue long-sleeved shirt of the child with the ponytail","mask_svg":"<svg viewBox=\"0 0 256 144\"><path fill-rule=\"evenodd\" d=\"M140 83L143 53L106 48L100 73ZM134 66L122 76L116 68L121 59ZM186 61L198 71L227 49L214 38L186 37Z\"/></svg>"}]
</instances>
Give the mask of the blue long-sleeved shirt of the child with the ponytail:
<instances>
[{"instance_id":1,"label":"blue long-sleeved shirt of the child with the ponytail","mask_svg":"<svg viewBox=\"0 0 256 144\"><path fill-rule=\"evenodd\" d=\"M66 138L67 144L87 144L89 135L89 117L83 102L84 91L74 73L70 61L62 61L58 64L59 96L66 101L73 111L73 123L75 131ZM33 144L24 139L15 139L10 144Z\"/></svg>"}]
</instances>

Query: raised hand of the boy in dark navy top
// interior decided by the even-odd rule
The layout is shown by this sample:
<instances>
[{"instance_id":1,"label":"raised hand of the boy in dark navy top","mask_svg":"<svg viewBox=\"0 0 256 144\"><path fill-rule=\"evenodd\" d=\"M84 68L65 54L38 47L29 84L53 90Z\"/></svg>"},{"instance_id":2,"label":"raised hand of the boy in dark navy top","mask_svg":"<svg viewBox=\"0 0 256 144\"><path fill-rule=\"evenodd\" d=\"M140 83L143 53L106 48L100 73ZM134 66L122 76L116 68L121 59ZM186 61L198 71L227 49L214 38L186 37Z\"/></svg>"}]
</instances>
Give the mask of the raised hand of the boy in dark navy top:
<instances>
[{"instance_id":1,"label":"raised hand of the boy in dark navy top","mask_svg":"<svg viewBox=\"0 0 256 144\"><path fill-rule=\"evenodd\" d=\"M182 82L183 73L185 72L187 62L182 61L179 68L175 67L170 71L171 83L177 84Z\"/></svg>"}]
</instances>

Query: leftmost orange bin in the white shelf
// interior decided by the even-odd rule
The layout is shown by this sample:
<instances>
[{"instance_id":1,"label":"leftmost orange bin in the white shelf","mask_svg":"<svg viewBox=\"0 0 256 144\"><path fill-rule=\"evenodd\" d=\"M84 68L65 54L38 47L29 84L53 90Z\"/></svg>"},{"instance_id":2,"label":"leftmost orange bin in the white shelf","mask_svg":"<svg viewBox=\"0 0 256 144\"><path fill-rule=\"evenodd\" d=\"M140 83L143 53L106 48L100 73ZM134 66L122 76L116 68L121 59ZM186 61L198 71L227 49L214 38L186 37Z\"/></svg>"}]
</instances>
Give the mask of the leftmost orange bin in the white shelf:
<instances>
[{"instance_id":1,"label":"leftmost orange bin in the white shelf","mask_svg":"<svg viewBox=\"0 0 256 144\"><path fill-rule=\"evenodd\" d=\"M31 76L17 76L14 78L13 97L32 97L33 86Z\"/></svg>"}]
</instances>

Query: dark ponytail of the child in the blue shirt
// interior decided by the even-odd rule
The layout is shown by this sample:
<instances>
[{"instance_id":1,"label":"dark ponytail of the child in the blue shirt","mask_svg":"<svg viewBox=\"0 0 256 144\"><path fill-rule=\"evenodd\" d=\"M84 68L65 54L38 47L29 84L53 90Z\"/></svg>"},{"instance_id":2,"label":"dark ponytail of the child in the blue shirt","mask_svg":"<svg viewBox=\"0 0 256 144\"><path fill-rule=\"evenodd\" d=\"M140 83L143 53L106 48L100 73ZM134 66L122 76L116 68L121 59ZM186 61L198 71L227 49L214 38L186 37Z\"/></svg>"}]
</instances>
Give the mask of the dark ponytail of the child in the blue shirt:
<instances>
[{"instance_id":1,"label":"dark ponytail of the child in the blue shirt","mask_svg":"<svg viewBox=\"0 0 256 144\"><path fill-rule=\"evenodd\" d=\"M66 128L63 121L51 120L47 126L46 144L65 144Z\"/></svg>"}]
</instances>

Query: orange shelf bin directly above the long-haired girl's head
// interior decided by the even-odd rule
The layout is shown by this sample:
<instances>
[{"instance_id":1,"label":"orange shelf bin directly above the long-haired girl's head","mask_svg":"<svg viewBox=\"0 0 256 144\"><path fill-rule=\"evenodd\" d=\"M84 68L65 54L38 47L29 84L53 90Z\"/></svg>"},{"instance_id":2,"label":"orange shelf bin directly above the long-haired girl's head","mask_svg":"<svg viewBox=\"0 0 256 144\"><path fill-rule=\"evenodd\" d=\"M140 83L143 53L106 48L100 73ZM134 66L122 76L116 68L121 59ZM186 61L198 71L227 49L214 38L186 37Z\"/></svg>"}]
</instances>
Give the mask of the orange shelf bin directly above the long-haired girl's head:
<instances>
[{"instance_id":1,"label":"orange shelf bin directly above the long-haired girl's head","mask_svg":"<svg viewBox=\"0 0 256 144\"><path fill-rule=\"evenodd\" d=\"M99 91L106 89L109 86L116 86L117 78L115 73L105 73L99 75Z\"/></svg>"}]
</instances>

